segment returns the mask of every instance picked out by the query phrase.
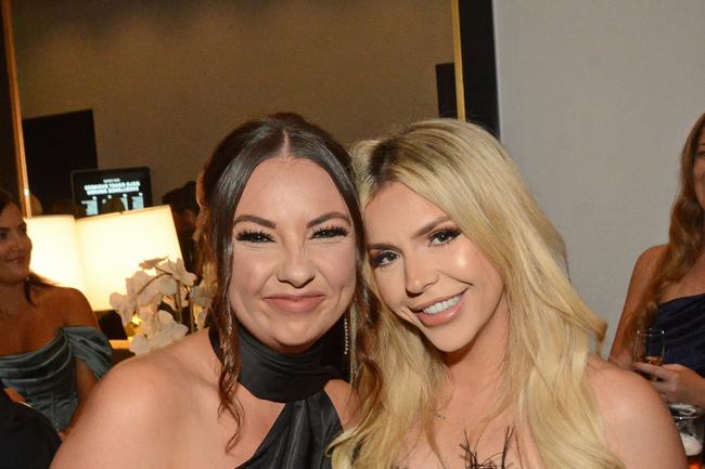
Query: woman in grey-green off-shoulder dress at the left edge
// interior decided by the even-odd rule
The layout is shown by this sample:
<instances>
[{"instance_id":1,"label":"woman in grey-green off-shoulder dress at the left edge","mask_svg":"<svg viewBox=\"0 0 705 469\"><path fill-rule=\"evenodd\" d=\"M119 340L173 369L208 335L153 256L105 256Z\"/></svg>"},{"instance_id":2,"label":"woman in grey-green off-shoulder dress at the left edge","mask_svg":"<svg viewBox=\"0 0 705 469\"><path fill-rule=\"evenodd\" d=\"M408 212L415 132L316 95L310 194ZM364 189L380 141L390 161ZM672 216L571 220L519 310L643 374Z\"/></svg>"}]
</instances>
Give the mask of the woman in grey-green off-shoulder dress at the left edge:
<instances>
[{"instance_id":1,"label":"woman in grey-green off-shoulder dress at the left edge","mask_svg":"<svg viewBox=\"0 0 705 469\"><path fill-rule=\"evenodd\" d=\"M86 297L29 272L22 213L0 191L0 380L64 431L111 366L111 347Z\"/></svg>"}]
</instances>

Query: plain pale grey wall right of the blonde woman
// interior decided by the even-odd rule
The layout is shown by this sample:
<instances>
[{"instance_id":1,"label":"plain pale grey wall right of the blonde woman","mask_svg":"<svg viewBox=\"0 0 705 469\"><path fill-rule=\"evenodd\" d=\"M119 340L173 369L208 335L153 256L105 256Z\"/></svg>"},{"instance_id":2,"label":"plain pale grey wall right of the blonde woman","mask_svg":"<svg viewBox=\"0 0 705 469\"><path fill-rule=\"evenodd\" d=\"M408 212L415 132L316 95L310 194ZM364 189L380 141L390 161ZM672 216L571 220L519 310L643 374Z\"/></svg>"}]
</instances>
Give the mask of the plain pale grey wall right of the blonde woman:
<instances>
[{"instance_id":1,"label":"plain pale grey wall right of the blonde woman","mask_svg":"<svg viewBox=\"0 0 705 469\"><path fill-rule=\"evenodd\" d=\"M496 0L502 141L610 322L667 240L678 157L705 112L702 0Z\"/></svg>"}]
</instances>

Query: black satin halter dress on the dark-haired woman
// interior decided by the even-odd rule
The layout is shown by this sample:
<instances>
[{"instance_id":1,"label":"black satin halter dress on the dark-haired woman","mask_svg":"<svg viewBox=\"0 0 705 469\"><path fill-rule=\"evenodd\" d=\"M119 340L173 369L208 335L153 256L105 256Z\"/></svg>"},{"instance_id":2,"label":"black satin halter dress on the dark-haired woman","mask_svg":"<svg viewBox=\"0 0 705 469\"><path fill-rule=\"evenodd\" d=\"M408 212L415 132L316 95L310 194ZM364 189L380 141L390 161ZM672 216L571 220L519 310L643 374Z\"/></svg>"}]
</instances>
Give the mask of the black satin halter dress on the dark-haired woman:
<instances>
[{"instance_id":1,"label":"black satin halter dress on the dark-haired woman","mask_svg":"<svg viewBox=\"0 0 705 469\"><path fill-rule=\"evenodd\" d=\"M218 333L208 330L210 344L220 357ZM325 383L341 378L339 372L322 362L324 343L308 351L285 355L239 327L241 372L238 381L253 395L282 402L274 420L254 456L236 469L329 469L325 448L342 431L341 419Z\"/></svg>"}]
</instances>

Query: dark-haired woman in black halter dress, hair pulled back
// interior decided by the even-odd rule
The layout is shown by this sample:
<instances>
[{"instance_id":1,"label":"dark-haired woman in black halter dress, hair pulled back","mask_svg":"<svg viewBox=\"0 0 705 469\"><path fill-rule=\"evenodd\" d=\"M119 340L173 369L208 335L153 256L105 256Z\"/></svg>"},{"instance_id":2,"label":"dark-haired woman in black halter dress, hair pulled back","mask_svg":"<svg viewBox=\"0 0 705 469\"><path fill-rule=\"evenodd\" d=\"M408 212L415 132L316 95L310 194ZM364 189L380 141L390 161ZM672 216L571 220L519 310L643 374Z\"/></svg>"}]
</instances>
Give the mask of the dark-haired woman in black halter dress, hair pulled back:
<instances>
[{"instance_id":1,"label":"dark-haired woman in black halter dress, hair pulled back","mask_svg":"<svg viewBox=\"0 0 705 469\"><path fill-rule=\"evenodd\" d=\"M345 149L296 115L236 128L206 164L210 328L120 363L54 468L322 468L349 387L326 333L363 302Z\"/></svg>"}]
</instances>

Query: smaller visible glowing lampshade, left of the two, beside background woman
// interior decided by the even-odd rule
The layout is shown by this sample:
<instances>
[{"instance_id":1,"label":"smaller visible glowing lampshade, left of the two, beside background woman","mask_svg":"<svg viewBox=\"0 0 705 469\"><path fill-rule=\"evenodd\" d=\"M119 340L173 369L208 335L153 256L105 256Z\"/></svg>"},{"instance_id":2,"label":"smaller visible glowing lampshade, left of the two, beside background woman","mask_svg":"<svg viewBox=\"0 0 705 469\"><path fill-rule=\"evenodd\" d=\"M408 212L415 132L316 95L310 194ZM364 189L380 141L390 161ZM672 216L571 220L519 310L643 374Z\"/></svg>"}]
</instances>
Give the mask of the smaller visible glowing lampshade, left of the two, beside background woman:
<instances>
[{"instance_id":1,"label":"smaller visible glowing lampshade, left of the two, beside background woman","mask_svg":"<svg viewBox=\"0 0 705 469\"><path fill-rule=\"evenodd\" d=\"M57 285L86 291L74 217L53 214L25 221L33 243L33 272Z\"/></svg>"}]
</instances>

